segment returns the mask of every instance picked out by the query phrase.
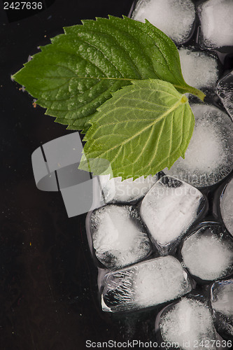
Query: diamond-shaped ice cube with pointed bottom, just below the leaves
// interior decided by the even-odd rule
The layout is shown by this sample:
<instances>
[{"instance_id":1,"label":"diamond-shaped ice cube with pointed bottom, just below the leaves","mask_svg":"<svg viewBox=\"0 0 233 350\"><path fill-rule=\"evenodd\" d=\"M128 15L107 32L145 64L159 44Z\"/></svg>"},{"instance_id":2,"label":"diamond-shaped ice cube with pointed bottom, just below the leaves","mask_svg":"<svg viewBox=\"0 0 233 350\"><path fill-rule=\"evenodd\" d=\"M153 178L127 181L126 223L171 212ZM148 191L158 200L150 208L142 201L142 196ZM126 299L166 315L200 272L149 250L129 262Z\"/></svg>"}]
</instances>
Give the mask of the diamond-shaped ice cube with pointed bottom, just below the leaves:
<instances>
[{"instance_id":1,"label":"diamond-shaped ice cube with pointed bottom, just below the leaves","mask_svg":"<svg viewBox=\"0 0 233 350\"><path fill-rule=\"evenodd\" d=\"M162 253L168 253L204 208L204 196L188 183L163 176L141 202L141 218L151 240Z\"/></svg>"}]
</instances>

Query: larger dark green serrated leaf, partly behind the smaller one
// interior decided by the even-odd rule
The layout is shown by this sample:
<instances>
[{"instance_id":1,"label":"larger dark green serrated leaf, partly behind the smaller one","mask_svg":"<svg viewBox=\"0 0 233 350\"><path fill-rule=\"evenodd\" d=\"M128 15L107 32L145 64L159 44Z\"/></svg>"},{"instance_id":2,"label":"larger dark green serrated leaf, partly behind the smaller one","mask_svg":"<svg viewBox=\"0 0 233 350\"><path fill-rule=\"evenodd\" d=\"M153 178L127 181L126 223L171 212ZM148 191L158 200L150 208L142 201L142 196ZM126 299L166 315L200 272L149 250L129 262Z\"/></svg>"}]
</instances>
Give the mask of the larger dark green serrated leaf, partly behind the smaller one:
<instances>
[{"instance_id":1,"label":"larger dark green serrated leaf, partly behind the smaller one","mask_svg":"<svg viewBox=\"0 0 233 350\"><path fill-rule=\"evenodd\" d=\"M204 99L183 80L176 45L148 21L109 16L64 32L13 78L69 129L86 131L97 108L132 80L166 80Z\"/></svg>"}]
</instances>

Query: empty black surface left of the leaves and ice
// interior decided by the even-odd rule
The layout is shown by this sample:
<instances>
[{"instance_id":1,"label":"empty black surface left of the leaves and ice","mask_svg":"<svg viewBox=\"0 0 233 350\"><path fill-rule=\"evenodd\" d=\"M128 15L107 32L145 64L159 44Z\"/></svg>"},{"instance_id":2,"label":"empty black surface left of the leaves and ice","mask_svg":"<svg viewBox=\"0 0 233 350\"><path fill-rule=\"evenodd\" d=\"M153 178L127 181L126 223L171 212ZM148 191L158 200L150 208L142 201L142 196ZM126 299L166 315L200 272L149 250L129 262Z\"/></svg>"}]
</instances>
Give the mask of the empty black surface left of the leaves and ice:
<instances>
[{"instance_id":1,"label":"empty black surface left of the leaves and ice","mask_svg":"<svg viewBox=\"0 0 233 350\"><path fill-rule=\"evenodd\" d=\"M45 10L27 18L6 13L0 3L0 349L82 350L87 339L153 340L155 311L101 311L85 215L68 218L61 195L37 190L31 169L38 146L71 131L34 108L33 98L10 80L62 27L127 15L132 0L43 3Z\"/></svg>"}]
</instances>

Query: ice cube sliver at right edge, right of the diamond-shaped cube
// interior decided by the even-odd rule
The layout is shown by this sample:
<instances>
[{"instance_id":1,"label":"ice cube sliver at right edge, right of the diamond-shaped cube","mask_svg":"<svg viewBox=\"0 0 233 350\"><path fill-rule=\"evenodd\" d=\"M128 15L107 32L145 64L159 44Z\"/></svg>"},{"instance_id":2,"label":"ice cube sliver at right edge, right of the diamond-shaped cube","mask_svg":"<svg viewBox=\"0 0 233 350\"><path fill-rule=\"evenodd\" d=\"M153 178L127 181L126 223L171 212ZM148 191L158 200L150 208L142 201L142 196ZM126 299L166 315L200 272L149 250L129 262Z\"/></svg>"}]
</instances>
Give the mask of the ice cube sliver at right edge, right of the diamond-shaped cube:
<instances>
[{"instance_id":1,"label":"ice cube sliver at right edge, right of the diamond-shaped cube","mask_svg":"<svg viewBox=\"0 0 233 350\"><path fill-rule=\"evenodd\" d=\"M233 179L225 186L220 197L220 212L225 227L233 235Z\"/></svg>"}]
</instances>

